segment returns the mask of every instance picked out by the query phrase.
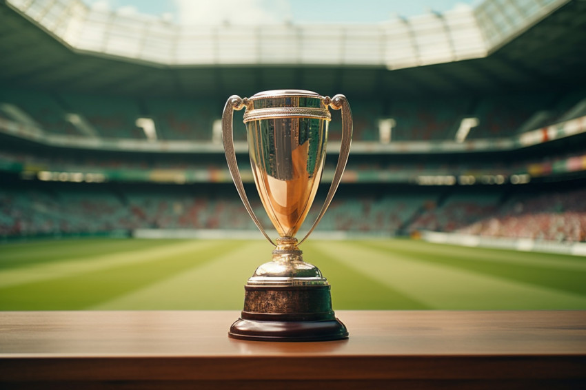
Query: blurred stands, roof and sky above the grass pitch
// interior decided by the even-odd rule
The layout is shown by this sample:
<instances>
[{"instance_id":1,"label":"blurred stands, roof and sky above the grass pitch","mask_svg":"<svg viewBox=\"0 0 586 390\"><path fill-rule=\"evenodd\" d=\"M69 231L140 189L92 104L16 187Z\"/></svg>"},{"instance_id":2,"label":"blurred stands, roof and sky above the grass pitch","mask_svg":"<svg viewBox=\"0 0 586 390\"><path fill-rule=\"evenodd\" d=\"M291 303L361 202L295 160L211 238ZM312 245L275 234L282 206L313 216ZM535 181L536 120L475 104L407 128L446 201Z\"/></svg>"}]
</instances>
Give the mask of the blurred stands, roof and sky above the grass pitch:
<instances>
[{"instance_id":1,"label":"blurred stands, roof and sky above the grass pitch","mask_svg":"<svg viewBox=\"0 0 586 390\"><path fill-rule=\"evenodd\" d=\"M586 1L3 0L0 21L2 240L259 236L219 121L285 88L352 107L318 236L586 239Z\"/></svg>"}]
</instances>

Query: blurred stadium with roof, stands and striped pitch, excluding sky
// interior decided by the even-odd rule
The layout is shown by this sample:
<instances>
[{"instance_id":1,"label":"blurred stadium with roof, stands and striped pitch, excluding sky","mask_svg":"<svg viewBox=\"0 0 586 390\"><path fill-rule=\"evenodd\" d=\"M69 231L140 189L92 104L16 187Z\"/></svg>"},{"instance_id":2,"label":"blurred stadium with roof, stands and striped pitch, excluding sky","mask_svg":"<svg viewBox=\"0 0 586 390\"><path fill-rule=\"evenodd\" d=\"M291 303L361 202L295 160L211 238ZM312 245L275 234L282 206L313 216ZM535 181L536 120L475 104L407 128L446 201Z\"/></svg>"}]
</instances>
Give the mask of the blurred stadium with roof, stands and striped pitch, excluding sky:
<instances>
[{"instance_id":1,"label":"blurred stadium with roof, stands and striped pitch, excluding sky","mask_svg":"<svg viewBox=\"0 0 586 390\"><path fill-rule=\"evenodd\" d=\"M207 28L2 0L0 20L2 310L239 309L270 247L228 172L222 109L286 88L352 107L342 183L303 247L334 307L586 308L585 1ZM306 225L339 112L329 131Z\"/></svg>"}]
</instances>

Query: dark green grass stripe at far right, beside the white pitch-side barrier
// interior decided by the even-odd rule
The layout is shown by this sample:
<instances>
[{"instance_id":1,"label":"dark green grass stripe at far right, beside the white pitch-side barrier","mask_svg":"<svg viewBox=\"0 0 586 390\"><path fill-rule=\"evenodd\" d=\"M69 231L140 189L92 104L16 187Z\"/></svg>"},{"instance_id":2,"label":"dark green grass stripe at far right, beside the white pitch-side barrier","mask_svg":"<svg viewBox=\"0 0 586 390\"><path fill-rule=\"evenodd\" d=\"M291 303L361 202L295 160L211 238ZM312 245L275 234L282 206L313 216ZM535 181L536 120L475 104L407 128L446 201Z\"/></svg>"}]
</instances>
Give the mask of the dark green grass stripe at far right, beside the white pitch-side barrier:
<instances>
[{"instance_id":1,"label":"dark green grass stripe at far right, beside the white pitch-side barrier","mask_svg":"<svg viewBox=\"0 0 586 390\"><path fill-rule=\"evenodd\" d=\"M528 283L586 296L586 269L572 269L568 268L567 264L562 265L561 263L556 265L553 260L558 257L556 255L551 256L551 260L547 263L543 261L537 261L534 264L529 261L518 263L517 259L523 253L498 250L483 252L481 249L474 256L469 251L461 251L459 247L425 244L400 247L393 245L393 243L378 241L361 243L365 247L409 256L435 265L445 265L476 274L512 280L516 283ZM491 255L495 256L496 260L493 260ZM565 260L568 256L560 257ZM582 262L578 262L578 264L581 265Z\"/></svg>"}]
</instances>

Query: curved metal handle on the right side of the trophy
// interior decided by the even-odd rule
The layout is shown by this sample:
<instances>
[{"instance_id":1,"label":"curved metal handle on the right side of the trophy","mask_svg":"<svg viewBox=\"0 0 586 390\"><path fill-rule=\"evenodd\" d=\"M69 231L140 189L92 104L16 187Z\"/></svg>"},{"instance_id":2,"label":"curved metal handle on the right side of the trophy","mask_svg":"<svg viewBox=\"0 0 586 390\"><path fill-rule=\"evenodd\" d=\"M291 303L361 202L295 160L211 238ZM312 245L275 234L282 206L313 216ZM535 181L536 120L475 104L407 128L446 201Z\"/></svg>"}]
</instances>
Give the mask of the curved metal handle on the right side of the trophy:
<instances>
[{"instance_id":1,"label":"curved metal handle on the right side of the trophy","mask_svg":"<svg viewBox=\"0 0 586 390\"><path fill-rule=\"evenodd\" d=\"M334 198L334 194L336 194L336 190L338 189L338 185L342 179L342 174L346 168L348 155L350 154L350 143L352 143L352 128L354 127L354 124L352 123L352 112L350 111L350 105L348 104L346 96L343 94L337 94L332 99L326 96L323 100L325 105L329 105L334 110L342 110L342 144L340 146L338 165L336 165L336 172L334 172L334 180L332 181L332 185L330 185L330 191L327 192L325 202L323 203L321 211L319 212L319 215L317 216L311 229L309 232L307 232L307 234L305 234L303 240L299 241L299 244L297 245L301 245L301 243L303 243L303 241L305 241L305 239L309 237L310 234L312 234L315 227L321 220L321 217L323 217L323 214L325 214L327 207L330 207L332 198Z\"/></svg>"}]
</instances>

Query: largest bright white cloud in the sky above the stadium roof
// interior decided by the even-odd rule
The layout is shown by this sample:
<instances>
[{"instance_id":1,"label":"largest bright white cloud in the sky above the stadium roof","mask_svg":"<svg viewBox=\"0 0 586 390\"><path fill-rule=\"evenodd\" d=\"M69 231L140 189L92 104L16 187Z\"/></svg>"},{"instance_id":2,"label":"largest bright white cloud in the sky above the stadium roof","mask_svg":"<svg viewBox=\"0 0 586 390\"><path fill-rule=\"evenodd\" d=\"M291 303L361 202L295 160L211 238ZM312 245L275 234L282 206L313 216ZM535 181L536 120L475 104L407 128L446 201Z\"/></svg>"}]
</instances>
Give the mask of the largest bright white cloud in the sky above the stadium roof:
<instances>
[{"instance_id":1,"label":"largest bright white cloud in the sky above the stadium roof","mask_svg":"<svg viewBox=\"0 0 586 390\"><path fill-rule=\"evenodd\" d=\"M174 0L183 25L262 25L291 19L288 0Z\"/></svg>"}]
</instances>

